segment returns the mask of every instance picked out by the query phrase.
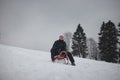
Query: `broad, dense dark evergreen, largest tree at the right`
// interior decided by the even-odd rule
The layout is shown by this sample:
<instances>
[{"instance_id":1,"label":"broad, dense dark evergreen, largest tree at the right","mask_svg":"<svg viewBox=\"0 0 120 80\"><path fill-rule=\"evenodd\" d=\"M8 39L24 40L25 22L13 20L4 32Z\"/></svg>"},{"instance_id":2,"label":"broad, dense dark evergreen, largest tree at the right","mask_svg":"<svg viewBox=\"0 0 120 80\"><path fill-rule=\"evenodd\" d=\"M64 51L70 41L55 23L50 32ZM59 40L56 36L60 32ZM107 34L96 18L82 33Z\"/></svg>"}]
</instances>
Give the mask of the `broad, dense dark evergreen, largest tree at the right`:
<instances>
[{"instance_id":1,"label":"broad, dense dark evergreen, largest tree at the right","mask_svg":"<svg viewBox=\"0 0 120 80\"><path fill-rule=\"evenodd\" d=\"M113 22L109 21L101 26L99 33L99 50L101 60L106 62L117 62L117 29Z\"/></svg>"}]
</instances>

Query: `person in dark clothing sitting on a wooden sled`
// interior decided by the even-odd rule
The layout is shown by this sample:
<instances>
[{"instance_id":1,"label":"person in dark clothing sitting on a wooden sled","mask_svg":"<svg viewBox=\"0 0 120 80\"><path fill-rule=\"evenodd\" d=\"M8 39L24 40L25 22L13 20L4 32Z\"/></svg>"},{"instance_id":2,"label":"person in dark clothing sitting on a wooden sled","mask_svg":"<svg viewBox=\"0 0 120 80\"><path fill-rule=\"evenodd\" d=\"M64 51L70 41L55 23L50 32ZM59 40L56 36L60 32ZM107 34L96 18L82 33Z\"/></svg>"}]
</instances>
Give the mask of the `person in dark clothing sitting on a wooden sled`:
<instances>
[{"instance_id":1,"label":"person in dark clothing sitting on a wooden sled","mask_svg":"<svg viewBox=\"0 0 120 80\"><path fill-rule=\"evenodd\" d=\"M68 58L71 62L72 65L75 65L75 60L70 52L66 50L66 43L64 41L64 36L60 35L59 40L56 40L51 48L51 60L54 62L55 61L55 56L59 55L61 51L66 51Z\"/></svg>"}]
</instances>

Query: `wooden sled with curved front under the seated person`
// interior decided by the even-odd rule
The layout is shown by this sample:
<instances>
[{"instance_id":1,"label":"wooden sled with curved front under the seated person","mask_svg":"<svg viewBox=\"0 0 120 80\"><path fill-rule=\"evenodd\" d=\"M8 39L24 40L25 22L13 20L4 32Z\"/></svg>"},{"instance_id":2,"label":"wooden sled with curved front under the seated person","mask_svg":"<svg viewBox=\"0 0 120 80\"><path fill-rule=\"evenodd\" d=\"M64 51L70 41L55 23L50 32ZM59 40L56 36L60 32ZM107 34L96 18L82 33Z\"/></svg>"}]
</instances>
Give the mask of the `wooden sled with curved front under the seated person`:
<instances>
[{"instance_id":1,"label":"wooden sled with curved front under the seated person","mask_svg":"<svg viewBox=\"0 0 120 80\"><path fill-rule=\"evenodd\" d=\"M64 60L65 64L69 63L69 57L66 51L61 51L59 55L54 56L55 60Z\"/></svg>"}]
</instances>

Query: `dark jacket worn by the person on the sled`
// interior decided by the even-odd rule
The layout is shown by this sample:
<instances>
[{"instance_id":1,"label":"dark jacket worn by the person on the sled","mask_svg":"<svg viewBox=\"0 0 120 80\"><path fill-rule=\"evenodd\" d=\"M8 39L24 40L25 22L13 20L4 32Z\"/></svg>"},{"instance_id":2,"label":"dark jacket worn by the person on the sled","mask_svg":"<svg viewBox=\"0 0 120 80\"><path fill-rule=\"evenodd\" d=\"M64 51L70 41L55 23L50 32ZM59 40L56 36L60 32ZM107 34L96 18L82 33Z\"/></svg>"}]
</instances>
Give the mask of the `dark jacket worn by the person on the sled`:
<instances>
[{"instance_id":1,"label":"dark jacket worn by the person on the sled","mask_svg":"<svg viewBox=\"0 0 120 80\"><path fill-rule=\"evenodd\" d=\"M59 54L60 51L66 51L66 43L64 40L57 40L51 48L51 52Z\"/></svg>"}]
</instances>

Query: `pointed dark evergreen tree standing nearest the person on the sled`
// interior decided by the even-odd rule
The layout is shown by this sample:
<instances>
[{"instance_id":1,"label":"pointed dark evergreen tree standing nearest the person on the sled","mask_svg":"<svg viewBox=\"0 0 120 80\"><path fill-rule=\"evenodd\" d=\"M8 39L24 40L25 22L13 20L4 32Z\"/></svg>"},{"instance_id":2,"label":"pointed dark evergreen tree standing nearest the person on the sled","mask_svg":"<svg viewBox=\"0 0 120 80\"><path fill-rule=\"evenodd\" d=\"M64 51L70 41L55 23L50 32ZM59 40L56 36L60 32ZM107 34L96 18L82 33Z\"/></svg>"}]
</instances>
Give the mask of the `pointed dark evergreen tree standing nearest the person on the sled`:
<instances>
[{"instance_id":1,"label":"pointed dark evergreen tree standing nearest the person on the sled","mask_svg":"<svg viewBox=\"0 0 120 80\"><path fill-rule=\"evenodd\" d=\"M74 32L73 34L72 49L73 49L72 51L73 55L83 58L85 58L87 55L86 35L80 24L78 25L76 32Z\"/></svg>"}]
</instances>

